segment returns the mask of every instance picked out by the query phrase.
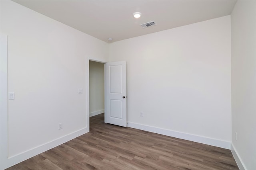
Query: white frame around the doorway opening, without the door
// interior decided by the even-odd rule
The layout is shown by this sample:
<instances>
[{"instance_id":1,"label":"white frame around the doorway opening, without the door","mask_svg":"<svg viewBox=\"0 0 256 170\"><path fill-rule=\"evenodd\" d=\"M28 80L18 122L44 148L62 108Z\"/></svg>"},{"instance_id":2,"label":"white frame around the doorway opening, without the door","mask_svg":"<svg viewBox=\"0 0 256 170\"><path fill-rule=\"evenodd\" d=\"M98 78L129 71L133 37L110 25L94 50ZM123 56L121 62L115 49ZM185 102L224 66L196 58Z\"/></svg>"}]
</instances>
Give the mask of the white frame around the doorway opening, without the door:
<instances>
[{"instance_id":1,"label":"white frame around the doorway opening, without the door","mask_svg":"<svg viewBox=\"0 0 256 170\"><path fill-rule=\"evenodd\" d=\"M89 131L90 131L90 89L89 89L89 84L90 84L90 80L89 80L89 61L95 61L98 63L108 63L107 61L102 61L102 60L97 60L97 59L93 59L93 58L88 58L86 59L86 124L87 127L89 127ZM105 81L105 69L104 69L104 81ZM104 84L104 91L105 91L105 84ZM105 102L104 102L105 104ZM105 121L105 120L104 120Z\"/></svg>"}]
</instances>

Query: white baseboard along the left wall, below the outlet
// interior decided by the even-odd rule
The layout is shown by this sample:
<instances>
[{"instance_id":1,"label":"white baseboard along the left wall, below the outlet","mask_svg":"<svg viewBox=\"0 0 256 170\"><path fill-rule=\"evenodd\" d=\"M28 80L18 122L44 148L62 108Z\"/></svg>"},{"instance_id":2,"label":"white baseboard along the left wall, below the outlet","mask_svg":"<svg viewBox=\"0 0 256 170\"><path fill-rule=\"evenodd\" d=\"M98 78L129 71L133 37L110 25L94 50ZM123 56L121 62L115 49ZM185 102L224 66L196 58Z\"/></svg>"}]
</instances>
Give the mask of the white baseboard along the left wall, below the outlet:
<instances>
[{"instance_id":1,"label":"white baseboard along the left wall, below the outlet","mask_svg":"<svg viewBox=\"0 0 256 170\"><path fill-rule=\"evenodd\" d=\"M78 131L75 131L73 133L70 133L66 136L60 137L58 139L55 139L53 141L50 141L48 143L45 143L43 145L40 145L38 147L35 147L33 149L27 150L25 152L22 152L20 154L14 155L6 159L6 161L1 162L0 170L4 170L6 168L9 168L15 164L18 164L24 160L27 160L28 158L31 158L33 156L36 156L42 152L45 152L46 150L52 149L54 147L57 147L58 145L61 145L65 142L68 142L76 137L79 137L80 135L83 135L85 133L89 132L89 128L83 128Z\"/></svg>"}]
</instances>

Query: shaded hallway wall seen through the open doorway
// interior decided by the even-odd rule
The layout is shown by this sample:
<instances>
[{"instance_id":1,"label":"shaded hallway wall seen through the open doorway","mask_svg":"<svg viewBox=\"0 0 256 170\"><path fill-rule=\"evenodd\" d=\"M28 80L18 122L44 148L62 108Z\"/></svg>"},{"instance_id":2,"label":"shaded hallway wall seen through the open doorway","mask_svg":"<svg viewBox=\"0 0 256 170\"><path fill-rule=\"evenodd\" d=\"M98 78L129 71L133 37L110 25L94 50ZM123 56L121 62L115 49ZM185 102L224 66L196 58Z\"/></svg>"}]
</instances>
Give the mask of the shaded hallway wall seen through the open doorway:
<instances>
[{"instance_id":1,"label":"shaded hallway wall seen through the open doorway","mask_svg":"<svg viewBox=\"0 0 256 170\"><path fill-rule=\"evenodd\" d=\"M90 116L104 113L104 63L89 62Z\"/></svg>"}]
</instances>

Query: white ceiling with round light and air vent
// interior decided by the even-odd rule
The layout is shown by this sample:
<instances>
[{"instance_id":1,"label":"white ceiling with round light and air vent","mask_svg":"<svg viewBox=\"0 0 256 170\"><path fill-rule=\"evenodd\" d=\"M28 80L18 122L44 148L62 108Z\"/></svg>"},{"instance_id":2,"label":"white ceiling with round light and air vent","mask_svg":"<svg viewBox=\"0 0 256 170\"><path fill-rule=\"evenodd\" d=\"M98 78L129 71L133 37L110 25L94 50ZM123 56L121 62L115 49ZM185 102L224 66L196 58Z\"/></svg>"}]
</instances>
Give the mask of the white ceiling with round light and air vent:
<instances>
[{"instance_id":1,"label":"white ceiling with round light and air vent","mask_svg":"<svg viewBox=\"0 0 256 170\"><path fill-rule=\"evenodd\" d=\"M236 0L13 0L109 43L230 15ZM141 18L134 18L141 12ZM156 25L141 28L140 24Z\"/></svg>"}]
</instances>

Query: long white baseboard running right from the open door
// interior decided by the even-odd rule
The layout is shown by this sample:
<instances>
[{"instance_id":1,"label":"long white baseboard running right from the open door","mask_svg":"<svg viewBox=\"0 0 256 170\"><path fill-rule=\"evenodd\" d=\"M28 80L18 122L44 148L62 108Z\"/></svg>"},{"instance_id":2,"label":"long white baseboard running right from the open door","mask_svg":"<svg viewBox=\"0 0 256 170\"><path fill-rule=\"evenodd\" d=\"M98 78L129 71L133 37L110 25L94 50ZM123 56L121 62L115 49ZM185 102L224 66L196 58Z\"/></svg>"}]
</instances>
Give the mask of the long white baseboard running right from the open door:
<instances>
[{"instance_id":1,"label":"long white baseboard running right from the open door","mask_svg":"<svg viewBox=\"0 0 256 170\"><path fill-rule=\"evenodd\" d=\"M178 132L178 131L171 131L168 129L162 129L162 128L158 128L158 127L152 127L152 126L142 125L142 124L133 123L133 122L128 122L127 126L135 128L135 129L158 133L161 135L176 137L179 139L185 139L188 141L193 141L193 142L203 143L206 145L212 145L215 147L230 149L230 142L228 142L228 141L221 141L218 139L212 139L212 138L208 138L208 137L202 137L202 136L192 135L192 134L188 134L188 133L182 133L182 132Z\"/></svg>"}]
</instances>

